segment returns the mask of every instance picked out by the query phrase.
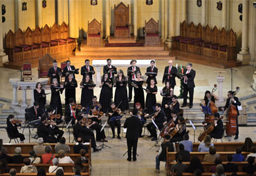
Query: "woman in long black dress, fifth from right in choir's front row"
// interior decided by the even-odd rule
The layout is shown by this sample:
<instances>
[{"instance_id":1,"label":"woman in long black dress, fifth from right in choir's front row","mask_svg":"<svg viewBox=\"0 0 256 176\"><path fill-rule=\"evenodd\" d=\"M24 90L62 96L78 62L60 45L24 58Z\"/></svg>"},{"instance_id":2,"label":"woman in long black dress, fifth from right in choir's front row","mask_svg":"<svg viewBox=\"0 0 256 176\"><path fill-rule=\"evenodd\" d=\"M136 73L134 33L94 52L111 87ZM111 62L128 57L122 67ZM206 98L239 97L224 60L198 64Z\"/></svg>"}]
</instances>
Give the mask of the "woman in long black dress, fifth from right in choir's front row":
<instances>
[{"instance_id":1,"label":"woman in long black dress, fifth from right in choir's front row","mask_svg":"<svg viewBox=\"0 0 256 176\"><path fill-rule=\"evenodd\" d=\"M106 113L110 108L111 103L111 92L112 92L112 84L109 79L109 75L105 73L102 77L100 84L100 105L103 113Z\"/></svg>"}]
</instances>

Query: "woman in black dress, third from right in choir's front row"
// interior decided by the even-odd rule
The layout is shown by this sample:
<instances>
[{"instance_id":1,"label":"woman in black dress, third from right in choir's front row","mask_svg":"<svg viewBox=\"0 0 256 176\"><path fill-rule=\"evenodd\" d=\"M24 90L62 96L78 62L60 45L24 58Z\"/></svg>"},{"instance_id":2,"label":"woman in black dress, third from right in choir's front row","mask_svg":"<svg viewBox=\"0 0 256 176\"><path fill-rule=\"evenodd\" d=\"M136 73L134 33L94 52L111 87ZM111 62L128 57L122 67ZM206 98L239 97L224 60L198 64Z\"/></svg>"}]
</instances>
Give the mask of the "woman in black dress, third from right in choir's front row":
<instances>
[{"instance_id":1,"label":"woman in black dress, third from right in choir's front row","mask_svg":"<svg viewBox=\"0 0 256 176\"><path fill-rule=\"evenodd\" d=\"M134 80L134 108L136 103L140 103L140 106L145 108L145 99L143 91L144 80L141 78L140 72L136 73L136 79Z\"/></svg>"}]
</instances>

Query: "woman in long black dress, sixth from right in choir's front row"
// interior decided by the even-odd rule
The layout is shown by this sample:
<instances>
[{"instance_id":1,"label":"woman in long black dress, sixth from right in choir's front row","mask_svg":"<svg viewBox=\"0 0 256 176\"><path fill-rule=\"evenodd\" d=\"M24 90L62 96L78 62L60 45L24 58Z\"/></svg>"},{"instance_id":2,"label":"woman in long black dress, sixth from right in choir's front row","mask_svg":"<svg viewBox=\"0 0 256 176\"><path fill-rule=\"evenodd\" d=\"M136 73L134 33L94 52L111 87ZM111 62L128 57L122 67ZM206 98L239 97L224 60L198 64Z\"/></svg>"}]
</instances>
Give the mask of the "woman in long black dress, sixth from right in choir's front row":
<instances>
[{"instance_id":1,"label":"woman in long black dress, sixth from right in choir's front row","mask_svg":"<svg viewBox=\"0 0 256 176\"><path fill-rule=\"evenodd\" d=\"M81 105L84 108L89 106L91 99L93 99L93 84L94 82L90 79L90 75L85 75L80 83L80 88L82 88Z\"/></svg>"}]
</instances>

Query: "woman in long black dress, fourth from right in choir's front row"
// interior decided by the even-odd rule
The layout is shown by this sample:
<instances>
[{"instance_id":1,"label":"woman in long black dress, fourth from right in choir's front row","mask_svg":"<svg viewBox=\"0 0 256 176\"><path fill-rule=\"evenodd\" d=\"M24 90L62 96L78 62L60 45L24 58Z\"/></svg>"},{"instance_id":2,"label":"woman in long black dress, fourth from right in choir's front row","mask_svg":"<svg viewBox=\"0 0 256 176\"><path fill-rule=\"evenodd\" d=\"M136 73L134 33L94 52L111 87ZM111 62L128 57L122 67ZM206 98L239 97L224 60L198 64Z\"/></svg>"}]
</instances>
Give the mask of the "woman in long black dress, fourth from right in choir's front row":
<instances>
[{"instance_id":1,"label":"woman in long black dress, fourth from right in choir's front row","mask_svg":"<svg viewBox=\"0 0 256 176\"><path fill-rule=\"evenodd\" d=\"M118 70L118 75L115 79L116 92L115 92L115 103L116 106L122 101L120 106L118 106L122 112L129 108L128 97L127 97L127 79L125 78L124 72Z\"/></svg>"}]
</instances>

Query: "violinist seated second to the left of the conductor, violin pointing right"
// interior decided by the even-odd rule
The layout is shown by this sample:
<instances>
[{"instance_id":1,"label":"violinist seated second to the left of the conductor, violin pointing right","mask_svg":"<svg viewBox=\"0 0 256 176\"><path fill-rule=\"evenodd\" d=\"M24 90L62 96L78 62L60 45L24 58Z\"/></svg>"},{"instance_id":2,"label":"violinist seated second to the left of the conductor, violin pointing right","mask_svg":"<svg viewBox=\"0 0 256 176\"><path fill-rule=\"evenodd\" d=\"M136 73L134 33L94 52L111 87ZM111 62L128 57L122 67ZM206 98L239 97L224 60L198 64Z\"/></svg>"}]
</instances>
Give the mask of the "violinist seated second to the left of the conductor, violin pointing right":
<instances>
[{"instance_id":1,"label":"violinist seated second to the left of the conductor, violin pointing right","mask_svg":"<svg viewBox=\"0 0 256 176\"><path fill-rule=\"evenodd\" d=\"M90 128L96 130L96 141L107 141L104 129L100 131L102 128L100 121L104 117L103 115L100 114L95 106L91 106L87 121L89 121L89 124L92 124Z\"/></svg>"}]
</instances>

